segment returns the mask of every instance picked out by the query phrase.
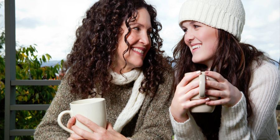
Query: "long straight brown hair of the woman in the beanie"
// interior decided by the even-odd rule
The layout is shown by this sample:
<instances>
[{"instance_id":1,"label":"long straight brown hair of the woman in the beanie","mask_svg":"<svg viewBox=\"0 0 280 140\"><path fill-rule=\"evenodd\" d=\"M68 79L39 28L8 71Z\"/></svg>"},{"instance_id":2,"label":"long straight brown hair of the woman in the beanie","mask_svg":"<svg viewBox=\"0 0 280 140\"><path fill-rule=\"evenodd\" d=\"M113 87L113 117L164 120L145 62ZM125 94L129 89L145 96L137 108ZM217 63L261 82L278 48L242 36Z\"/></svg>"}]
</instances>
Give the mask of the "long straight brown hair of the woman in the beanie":
<instances>
[{"instance_id":1,"label":"long straight brown hair of the woman in the beanie","mask_svg":"<svg viewBox=\"0 0 280 140\"><path fill-rule=\"evenodd\" d=\"M250 65L254 60L258 61L259 57L264 56L265 53L250 44L240 43L233 35L221 29L218 29L218 42L210 71L215 69L233 86L243 92L246 98L247 118L249 118L252 115L251 101L248 95L251 79ZM184 77L184 73L207 70L206 65L192 62L192 53L184 43L184 36L175 46L173 56L174 60L171 63L175 63L174 91ZM258 63L260 64L260 61ZM218 105L213 113L191 113L207 139L218 139L221 110L222 106Z\"/></svg>"}]
</instances>

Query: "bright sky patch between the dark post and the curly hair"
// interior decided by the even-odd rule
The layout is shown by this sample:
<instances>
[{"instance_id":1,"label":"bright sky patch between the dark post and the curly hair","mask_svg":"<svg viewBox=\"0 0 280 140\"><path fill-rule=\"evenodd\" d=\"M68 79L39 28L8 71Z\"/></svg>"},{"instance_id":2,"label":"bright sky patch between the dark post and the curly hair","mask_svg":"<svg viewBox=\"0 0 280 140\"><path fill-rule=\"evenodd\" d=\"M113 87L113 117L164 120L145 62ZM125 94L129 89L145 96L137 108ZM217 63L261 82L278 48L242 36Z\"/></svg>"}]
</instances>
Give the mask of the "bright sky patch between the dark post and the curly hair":
<instances>
[{"instance_id":1,"label":"bright sky patch between the dark post and the curly hair","mask_svg":"<svg viewBox=\"0 0 280 140\"><path fill-rule=\"evenodd\" d=\"M75 40L75 30L94 1L16 1L16 40L37 44L38 54L64 59Z\"/></svg>"}]
</instances>

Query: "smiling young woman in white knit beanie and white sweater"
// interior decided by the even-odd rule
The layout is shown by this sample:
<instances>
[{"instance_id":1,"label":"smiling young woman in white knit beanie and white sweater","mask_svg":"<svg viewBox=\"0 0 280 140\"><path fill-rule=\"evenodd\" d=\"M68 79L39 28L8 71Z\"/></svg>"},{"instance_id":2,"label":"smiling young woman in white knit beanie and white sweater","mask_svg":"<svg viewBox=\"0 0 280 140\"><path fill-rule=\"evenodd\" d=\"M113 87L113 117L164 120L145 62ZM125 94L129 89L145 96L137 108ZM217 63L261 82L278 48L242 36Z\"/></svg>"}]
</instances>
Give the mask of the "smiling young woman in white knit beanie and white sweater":
<instances>
[{"instance_id":1,"label":"smiling young woman in white knit beanie and white sweater","mask_svg":"<svg viewBox=\"0 0 280 140\"><path fill-rule=\"evenodd\" d=\"M170 119L175 139L279 139L275 108L279 70L263 52L240 43L245 11L240 0L187 0L180 10L184 37L174 49L175 95ZM217 96L192 100L201 71L217 82ZM193 72L184 77L184 73ZM213 113L191 113L196 105L217 105Z\"/></svg>"}]
</instances>

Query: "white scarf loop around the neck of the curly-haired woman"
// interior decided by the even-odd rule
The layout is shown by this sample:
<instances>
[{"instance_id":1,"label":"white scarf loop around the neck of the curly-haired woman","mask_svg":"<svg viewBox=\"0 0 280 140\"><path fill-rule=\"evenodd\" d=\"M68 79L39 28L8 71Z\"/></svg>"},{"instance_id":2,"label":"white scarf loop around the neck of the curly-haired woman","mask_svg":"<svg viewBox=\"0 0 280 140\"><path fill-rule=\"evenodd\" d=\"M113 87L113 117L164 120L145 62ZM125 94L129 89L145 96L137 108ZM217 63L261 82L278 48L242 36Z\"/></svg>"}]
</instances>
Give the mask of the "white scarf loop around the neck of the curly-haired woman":
<instances>
[{"instance_id":1,"label":"white scarf loop around the neck of the curly-haired woman","mask_svg":"<svg viewBox=\"0 0 280 140\"><path fill-rule=\"evenodd\" d=\"M139 75L141 70L139 68L134 68L133 70L123 73L125 77L123 77L121 74L114 72L110 70L110 74L113 76L112 83L116 85L124 85L128 84L132 81L135 81Z\"/></svg>"}]
</instances>

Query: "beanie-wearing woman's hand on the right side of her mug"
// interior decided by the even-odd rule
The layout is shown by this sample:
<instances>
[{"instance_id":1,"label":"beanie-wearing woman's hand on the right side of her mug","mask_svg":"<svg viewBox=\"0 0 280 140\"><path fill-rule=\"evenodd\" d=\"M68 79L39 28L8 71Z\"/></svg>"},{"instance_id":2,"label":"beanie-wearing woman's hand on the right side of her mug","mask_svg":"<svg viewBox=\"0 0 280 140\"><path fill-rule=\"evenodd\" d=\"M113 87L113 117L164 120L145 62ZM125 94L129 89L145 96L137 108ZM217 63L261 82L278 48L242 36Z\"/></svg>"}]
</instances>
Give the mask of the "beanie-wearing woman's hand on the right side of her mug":
<instances>
[{"instance_id":1,"label":"beanie-wearing woman's hand on the right side of her mug","mask_svg":"<svg viewBox=\"0 0 280 140\"><path fill-rule=\"evenodd\" d=\"M220 73L205 71L205 75L216 79L216 81L206 80L206 85L216 88L218 90L207 90L205 94L210 96L221 97L220 100L212 100L206 102L207 105L226 105L228 107L234 106L242 97L242 93L228 82Z\"/></svg>"}]
</instances>

